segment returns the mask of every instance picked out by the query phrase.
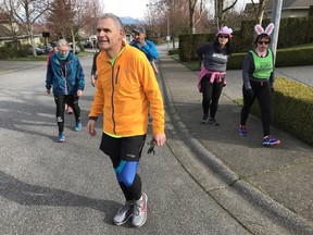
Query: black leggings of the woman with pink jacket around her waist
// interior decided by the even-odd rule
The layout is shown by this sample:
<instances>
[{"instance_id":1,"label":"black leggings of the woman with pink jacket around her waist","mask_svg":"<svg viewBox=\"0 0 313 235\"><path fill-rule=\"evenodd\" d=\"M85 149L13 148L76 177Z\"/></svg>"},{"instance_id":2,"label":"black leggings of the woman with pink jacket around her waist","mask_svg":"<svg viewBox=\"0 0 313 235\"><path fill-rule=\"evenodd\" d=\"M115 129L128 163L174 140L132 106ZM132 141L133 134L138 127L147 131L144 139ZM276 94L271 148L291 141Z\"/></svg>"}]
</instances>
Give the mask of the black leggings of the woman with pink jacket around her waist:
<instances>
[{"instance_id":1,"label":"black leggings of the woman with pink jacket around her waist","mask_svg":"<svg viewBox=\"0 0 313 235\"><path fill-rule=\"evenodd\" d=\"M210 118L214 119L217 108L218 108L218 99L222 94L222 89L224 87L224 78L221 83L216 83L216 79L213 84L210 83L211 75L205 75L201 79L202 87L202 109L203 114L209 115L210 109Z\"/></svg>"}]
</instances>

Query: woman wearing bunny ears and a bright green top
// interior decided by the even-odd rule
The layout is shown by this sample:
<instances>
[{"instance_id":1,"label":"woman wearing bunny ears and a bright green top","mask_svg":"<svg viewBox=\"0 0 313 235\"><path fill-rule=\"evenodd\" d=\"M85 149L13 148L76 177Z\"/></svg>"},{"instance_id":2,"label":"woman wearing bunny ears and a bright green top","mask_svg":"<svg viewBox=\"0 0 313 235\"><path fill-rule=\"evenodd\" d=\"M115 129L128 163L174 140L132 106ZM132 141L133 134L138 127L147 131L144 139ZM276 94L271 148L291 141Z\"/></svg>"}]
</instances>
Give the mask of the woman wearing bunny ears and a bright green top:
<instances>
[{"instance_id":1,"label":"woman wearing bunny ears and a bright green top","mask_svg":"<svg viewBox=\"0 0 313 235\"><path fill-rule=\"evenodd\" d=\"M239 126L239 135L247 136L246 122L255 98L261 109L261 121L263 126L263 146L279 145L280 140L271 136L271 110L272 94L274 92L274 54L268 45L274 24L271 23L265 29L255 25L256 37L253 41L254 50L250 50L243 60L243 107Z\"/></svg>"}]
</instances>

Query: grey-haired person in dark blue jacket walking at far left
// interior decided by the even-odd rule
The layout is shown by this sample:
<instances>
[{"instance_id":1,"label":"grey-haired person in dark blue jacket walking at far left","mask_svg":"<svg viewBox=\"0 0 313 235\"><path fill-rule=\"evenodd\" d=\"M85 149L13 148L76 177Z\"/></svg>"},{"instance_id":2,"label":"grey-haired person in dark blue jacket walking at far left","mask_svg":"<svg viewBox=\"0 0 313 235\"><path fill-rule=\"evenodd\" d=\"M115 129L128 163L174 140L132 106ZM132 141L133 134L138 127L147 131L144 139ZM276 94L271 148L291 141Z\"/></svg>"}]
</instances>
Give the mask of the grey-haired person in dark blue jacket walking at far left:
<instances>
[{"instance_id":1,"label":"grey-haired person in dark blue jacket walking at far left","mask_svg":"<svg viewBox=\"0 0 313 235\"><path fill-rule=\"evenodd\" d=\"M82 131L80 108L78 99L83 96L85 74L78 58L68 51L65 39L58 41L58 51L50 57L46 75L48 95L52 92L57 104L57 122L59 126L59 143L64 143L64 110L65 103L73 107L76 132Z\"/></svg>"}]
</instances>

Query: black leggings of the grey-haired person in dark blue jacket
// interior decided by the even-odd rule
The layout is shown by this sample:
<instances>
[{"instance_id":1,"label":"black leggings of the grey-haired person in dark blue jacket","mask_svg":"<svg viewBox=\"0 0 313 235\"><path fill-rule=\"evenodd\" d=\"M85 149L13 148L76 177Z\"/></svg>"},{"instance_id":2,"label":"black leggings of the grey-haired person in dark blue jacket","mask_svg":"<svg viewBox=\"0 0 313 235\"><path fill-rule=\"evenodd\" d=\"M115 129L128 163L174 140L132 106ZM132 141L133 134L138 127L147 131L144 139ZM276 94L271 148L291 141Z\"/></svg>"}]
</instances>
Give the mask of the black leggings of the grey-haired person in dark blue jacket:
<instances>
[{"instance_id":1,"label":"black leggings of the grey-haired person in dark blue jacket","mask_svg":"<svg viewBox=\"0 0 313 235\"><path fill-rule=\"evenodd\" d=\"M64 111L65 103L73 108L75 122L80 122L80 108L78 106L79 97L77 95L54 95L54 101L57 104L57 123L59 132L64 132Z\"/></svg>"}]
</instances>

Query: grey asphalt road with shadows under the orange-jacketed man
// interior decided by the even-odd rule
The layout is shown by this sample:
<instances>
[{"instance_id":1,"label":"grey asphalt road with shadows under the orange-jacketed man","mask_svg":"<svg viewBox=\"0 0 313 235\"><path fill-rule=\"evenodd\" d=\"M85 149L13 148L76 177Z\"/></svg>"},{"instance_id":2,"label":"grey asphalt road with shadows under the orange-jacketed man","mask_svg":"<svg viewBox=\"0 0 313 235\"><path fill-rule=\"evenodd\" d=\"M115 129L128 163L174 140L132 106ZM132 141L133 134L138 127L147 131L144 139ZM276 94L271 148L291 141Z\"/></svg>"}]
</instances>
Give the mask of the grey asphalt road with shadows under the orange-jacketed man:
<instances>
[{"instance_id":1,"label":"grey asphalt road with shadows under the orange-jacketed man","mask_svg":"<svg viewBox=\"0 0 313 235\"><path fill-rule=\"evenodd\" d=\"M139 230L112 225L124 199L109 158L99 150L101 136L91 138L85 128L93 94L91 59L82 59L87 74L79 100L83 132L74 132L74 118L66 115L64 144L55 143L55 104L46 94L45 62L10 62L12 70L0 73L0 234L251 234L175 158L188 154L189 166L203 173L203 181L215 188L224 184L192 160L171 123L168 145L155 156L148 156L146 146L139 166L149 197L147 223ZM4 66L0 61L0 71Z\"/></svg>"}]
</instances>

